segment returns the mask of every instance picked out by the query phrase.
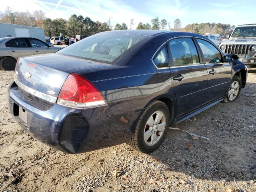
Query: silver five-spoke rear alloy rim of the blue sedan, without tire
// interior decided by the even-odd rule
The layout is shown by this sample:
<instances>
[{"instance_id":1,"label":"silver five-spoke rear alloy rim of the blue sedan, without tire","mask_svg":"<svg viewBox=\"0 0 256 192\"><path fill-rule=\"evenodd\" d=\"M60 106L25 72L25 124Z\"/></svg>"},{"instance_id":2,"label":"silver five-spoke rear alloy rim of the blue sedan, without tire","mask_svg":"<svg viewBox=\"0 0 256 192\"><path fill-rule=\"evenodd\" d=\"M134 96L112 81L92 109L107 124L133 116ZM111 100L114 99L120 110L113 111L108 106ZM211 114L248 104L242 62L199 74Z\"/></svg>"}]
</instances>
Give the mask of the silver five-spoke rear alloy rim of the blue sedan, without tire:
<instances>
[{"instance_id":1,"label":"silver five-spoke rear alloy rim of the blue sedan, without tire","mask_svg":"<svg viewBox=\"0 0 256 192\"><path fill-rule=\"evenodd\" d=\"M166 117L162 111L154 112L146 122L144 128L144 141L146 145L153 146L162 137L165 129Z\"/></svg>"}]
</instances>

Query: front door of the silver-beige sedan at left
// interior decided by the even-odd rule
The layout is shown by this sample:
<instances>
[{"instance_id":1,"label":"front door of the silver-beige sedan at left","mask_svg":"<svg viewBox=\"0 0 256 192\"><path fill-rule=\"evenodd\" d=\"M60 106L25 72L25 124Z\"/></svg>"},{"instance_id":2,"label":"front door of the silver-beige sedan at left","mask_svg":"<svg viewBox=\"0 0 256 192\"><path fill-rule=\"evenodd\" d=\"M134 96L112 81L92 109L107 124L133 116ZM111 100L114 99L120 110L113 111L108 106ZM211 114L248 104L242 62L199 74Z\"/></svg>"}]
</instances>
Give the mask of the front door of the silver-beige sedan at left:
<instances>
[{"instance_id":1,"label":"front door of the silver-beige sedan at left","mask_svg":"<svg viewBox=\"0 0 256 192\"><path fill-rule=\"evenodd\" d=\"M28 42L32 47L34 55L55 52L53 47L48 47L48 44L40 41L39 39L28 38Z\"/></svg>"}]
</instances>

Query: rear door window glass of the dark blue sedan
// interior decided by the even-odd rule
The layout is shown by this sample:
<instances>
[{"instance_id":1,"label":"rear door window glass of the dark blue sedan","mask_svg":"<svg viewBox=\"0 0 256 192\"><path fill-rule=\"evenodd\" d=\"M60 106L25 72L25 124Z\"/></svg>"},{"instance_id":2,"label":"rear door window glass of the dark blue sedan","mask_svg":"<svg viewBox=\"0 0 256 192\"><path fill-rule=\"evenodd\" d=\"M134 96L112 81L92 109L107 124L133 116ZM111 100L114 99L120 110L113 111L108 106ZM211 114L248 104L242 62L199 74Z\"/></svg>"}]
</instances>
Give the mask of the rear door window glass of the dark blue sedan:
<instances>
[{"instance_id":1,"label":"rear door window glass of the dark blue sedan","mask_svg":"<svg viewBox=\"0 0 256 192\"><path fill-rule=\"evenodd\" d=\"M174 66L199 64L196 46L191 38L179 38L168 42Z\"/></svg>"}]
</instances>

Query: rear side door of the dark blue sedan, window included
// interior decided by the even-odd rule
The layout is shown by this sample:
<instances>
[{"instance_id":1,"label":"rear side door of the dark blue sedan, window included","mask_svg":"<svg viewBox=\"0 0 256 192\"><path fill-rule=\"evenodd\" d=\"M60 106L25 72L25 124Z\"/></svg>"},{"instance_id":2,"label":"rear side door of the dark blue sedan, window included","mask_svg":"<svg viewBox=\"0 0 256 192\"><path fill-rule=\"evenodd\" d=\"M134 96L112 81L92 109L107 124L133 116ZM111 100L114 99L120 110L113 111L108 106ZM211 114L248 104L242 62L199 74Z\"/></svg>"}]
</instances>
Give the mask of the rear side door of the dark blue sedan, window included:
<instances>
[{"instance_id":1,"label":"rear side door of the dark blue sedan, window included","mask_svg":"<svg viewBox=\"0 0 256 192\"><path fill-rule=\"evenodd\" d=\"M178 118L198 109L206 94L207 70L193 38L168 41L172 83L178 104Z\"/></svg>"}]
</instances>

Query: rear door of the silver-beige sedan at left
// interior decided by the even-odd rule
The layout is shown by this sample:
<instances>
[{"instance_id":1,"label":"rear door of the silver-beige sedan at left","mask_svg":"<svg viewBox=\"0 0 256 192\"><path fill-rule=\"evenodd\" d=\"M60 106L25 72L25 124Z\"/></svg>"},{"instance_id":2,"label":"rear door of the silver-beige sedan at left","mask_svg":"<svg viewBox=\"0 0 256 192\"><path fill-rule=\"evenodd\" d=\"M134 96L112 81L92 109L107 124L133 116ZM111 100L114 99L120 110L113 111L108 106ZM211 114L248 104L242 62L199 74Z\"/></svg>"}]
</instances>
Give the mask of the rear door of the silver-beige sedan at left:
<instances>
[{"instance_id":1,"label":"rear door of the silver-beige sedan at left","mask_svg":"<svg viewBox=\"0 0 256 192\"><path fill-rule=\"evenodd\" d=\"M13 38L8 40L5 45L9 53L15 58L33 55L33 50L25 38Z\"/></svg>"}]
</instances>

